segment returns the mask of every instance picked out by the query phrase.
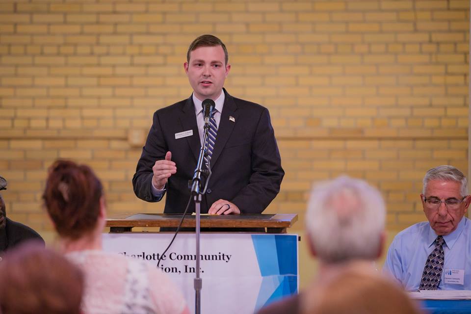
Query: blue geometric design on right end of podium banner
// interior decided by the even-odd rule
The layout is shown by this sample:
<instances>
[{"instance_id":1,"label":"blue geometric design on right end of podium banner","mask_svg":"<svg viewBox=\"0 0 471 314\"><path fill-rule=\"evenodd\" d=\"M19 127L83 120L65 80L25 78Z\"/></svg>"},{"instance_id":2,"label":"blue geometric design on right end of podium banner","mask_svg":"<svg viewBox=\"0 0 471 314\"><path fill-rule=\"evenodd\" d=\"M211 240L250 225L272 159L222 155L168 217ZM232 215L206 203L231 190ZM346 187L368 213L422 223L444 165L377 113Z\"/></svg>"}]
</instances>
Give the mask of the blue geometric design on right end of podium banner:
<instances>
[{"instance_id":1,"label":"blue geometric design on right end of podium banner","mask_svg":"<svg viewBox=\"0 0 471 314\"><path fill-rule=\"evenodd\" d=\"M296 241L296 235L252 235L262 274L255 310L297 292Z\"/></svg>"}]
</instances>

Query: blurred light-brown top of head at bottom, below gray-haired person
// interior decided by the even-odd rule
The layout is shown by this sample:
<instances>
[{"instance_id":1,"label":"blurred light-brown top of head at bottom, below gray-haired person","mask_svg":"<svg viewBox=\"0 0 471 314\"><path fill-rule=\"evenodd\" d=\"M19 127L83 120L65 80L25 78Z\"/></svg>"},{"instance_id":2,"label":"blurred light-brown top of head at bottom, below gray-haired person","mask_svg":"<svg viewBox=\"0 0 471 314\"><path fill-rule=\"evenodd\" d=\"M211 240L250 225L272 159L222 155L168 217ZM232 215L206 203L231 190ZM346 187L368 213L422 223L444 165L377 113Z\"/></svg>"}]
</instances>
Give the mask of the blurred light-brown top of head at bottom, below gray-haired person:
<instances>
[{"instance_id":1,"label":"blurred light-brown top of head at bottom, below gray-haired person","mask_svg":"<svg viewBox=\"0 0 471 314\"><path fill-rule=\"evenodd\" d=\"M345 267L304 300L305 314L419 314L415 302L395 282L362 267Z\"/></svg>"}]
</instances>

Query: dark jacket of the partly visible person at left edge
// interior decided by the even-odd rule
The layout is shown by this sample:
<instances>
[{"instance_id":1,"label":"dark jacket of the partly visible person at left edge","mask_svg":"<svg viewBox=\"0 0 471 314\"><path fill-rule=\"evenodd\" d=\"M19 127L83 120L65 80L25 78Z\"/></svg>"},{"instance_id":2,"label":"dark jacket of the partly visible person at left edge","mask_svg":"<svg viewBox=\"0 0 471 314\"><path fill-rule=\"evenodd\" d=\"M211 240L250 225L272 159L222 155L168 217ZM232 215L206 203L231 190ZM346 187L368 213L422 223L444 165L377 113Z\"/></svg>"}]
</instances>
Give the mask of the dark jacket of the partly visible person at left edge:
<instances>
[{"instance_id":1,"label":"dark jacket of the partly visible person at left edge","mask_svg":"<svg viewBox=\"0 0 471 314\"><path fill-rule=\"evenodd\" d=\"M21 242L36 240L45 245L43 238L28 226L6 218L5 229L0 231L0 252L7 251Z\"/></svg>"}]
</instances>

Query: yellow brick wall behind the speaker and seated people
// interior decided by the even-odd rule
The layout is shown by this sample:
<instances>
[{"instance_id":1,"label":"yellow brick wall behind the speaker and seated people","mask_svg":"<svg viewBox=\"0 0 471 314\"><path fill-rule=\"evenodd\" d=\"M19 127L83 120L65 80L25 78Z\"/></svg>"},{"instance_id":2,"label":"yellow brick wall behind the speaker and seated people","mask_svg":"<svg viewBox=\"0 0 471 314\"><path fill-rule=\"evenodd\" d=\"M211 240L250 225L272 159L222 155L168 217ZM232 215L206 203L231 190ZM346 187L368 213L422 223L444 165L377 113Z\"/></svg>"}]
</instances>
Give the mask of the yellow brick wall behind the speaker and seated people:
<instances>
[{"instance_id":1,"label":"yellow brick wall behind the speaker and seated people","mask_svg":"<svg viewBox=\"0 0 471 314\"><path fill-rule=\"evenodd\" d=\"M90 164L113 212L160 212L131 178L153 112L187 98L188 44L219 36L226 87L270 109L286 177L267 212L298 213L315 180L377 185L388 227L423 220L424 172L468 172L469 0L0 2L0 174L8 215L41 209L56 158ZM134 145L137 143L137 145ZM140 146L139 146L140 145Z\"/></svg>"}]
</instances>

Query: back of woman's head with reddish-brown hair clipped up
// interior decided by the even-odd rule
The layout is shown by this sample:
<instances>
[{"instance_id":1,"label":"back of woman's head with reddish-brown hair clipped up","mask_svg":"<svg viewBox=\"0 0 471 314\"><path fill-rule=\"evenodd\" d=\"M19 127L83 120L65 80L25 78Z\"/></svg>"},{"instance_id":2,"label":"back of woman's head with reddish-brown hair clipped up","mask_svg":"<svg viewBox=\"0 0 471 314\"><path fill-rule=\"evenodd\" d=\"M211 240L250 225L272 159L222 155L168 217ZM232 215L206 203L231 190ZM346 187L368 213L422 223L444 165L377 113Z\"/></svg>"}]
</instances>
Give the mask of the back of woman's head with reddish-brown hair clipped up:
<instances>
[{"instance_id":1,"label":"back of woman's head with reddish-brown hair clipped up","mask_svg":"<svg viewBox=\"0 0 471 314\"><path fill-rule=\"evenodd\" d=\"M102 195L102 183L87 165L57 160L49 168L43 200L61 237L77 239L95 228Z\"/></svg>"}]
</instances>

